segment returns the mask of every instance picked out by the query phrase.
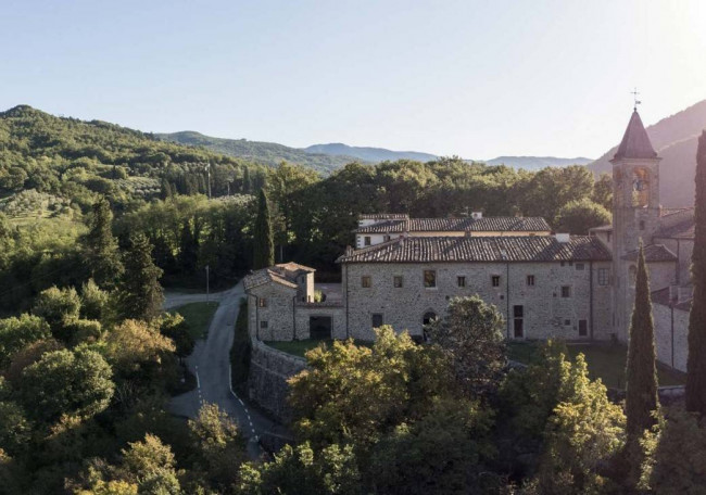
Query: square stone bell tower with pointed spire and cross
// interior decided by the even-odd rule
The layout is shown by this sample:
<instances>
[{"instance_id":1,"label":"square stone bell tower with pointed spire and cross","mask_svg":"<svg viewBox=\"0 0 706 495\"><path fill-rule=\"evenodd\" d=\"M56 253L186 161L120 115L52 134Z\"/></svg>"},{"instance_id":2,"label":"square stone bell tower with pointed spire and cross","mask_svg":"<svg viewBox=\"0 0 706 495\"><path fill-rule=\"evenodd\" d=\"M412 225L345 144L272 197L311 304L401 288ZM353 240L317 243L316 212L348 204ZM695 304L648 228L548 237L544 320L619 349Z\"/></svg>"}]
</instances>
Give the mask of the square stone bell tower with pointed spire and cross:
<instances>
[{"instance_id":1,"label":"square stone bell tower with pointed spire and cross","mask_svg":"<svg viewBox=\"0 0 706 495\"><path fill-rule=\"evenodd\" d=\"M616 337L628 340L634 304L634 255L659 227L659 161L638 113L632 113L613 164L613 274Z\"/></svg>"}]
</instances>

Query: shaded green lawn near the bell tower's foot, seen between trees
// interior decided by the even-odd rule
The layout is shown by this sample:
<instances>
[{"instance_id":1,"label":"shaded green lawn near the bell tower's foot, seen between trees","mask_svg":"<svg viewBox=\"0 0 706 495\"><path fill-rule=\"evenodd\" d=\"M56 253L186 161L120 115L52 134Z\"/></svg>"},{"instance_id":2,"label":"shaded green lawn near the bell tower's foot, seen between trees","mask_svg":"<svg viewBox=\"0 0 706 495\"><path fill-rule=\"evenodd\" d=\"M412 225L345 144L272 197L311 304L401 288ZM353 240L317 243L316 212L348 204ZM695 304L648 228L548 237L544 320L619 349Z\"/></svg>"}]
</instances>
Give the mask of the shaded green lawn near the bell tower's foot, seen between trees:
<instances>
[{"instance_id":1,"label":"shaded green lawn near the bell tower's foot, seen between trees","mask_svg":"<svg viewBox=\"0 0 706 495\"><path fill-rule=\"evenodd\" d=\"M539 342L510 342L508 355L513 360L531 364L539 357ZM623 389L626 384L625 368L628 348L620 344L567 344L569 356L576 358L579 353L585 356L589 376L613 389ZM657 366L659 386L683 385L683 373L664 366Z\"/></svg>"}]
</instances>

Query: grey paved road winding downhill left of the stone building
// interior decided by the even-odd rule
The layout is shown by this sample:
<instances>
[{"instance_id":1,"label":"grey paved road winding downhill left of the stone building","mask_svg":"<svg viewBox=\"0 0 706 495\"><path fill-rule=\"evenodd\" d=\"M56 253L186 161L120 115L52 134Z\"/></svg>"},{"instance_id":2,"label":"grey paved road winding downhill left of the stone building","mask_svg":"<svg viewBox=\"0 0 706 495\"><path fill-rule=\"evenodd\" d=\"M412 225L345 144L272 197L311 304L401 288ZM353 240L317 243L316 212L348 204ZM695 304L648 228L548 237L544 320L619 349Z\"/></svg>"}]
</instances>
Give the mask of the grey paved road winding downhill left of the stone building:
<instances>
[{"instance_id":1,"label":"grey paved road winding downhill left of the stone building","mask_svg":"<svg viewBox=\"0 0 706 495\"><path fill-rule=\"evenodd\" d=\"M249 440L248 453L251 458L257 459L262 455L259 437L270 430L273 422L248 407L230 386L229 352L240 299L244 296L242 283L220 294L220 305L209 327L209 337L205 341L199 340L193 353L187 358L189 369L197 377L197 389L174 397L171 410L179 416L194 418L201 404L217 404L236 419L240 432ZM202 295L205 301L205 294Z\"/></svg>"}]
</instances>

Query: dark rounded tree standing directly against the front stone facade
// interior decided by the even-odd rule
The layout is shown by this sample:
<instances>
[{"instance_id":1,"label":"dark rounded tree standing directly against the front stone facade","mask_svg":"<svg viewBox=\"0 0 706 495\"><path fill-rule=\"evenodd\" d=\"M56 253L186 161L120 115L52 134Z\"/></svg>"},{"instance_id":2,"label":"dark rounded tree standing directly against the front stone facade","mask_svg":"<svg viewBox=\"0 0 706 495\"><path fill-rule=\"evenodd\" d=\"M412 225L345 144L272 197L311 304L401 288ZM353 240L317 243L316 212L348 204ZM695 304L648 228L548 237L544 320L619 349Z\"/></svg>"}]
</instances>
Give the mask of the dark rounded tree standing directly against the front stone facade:
<instances>
[{"instance_id":1,"label":"dark rounded tree standing directly against the front stone facade","mask_svg":"<svg viewBox=\"0 0 706 495\"><path fill-rule=\"evenodd\" d=\"M467 392L494 388L505 366L503 316L478 295L454 297L443 319L432 321L428 332L454 366L456 380Z\"/></svg>"}]
</instances>

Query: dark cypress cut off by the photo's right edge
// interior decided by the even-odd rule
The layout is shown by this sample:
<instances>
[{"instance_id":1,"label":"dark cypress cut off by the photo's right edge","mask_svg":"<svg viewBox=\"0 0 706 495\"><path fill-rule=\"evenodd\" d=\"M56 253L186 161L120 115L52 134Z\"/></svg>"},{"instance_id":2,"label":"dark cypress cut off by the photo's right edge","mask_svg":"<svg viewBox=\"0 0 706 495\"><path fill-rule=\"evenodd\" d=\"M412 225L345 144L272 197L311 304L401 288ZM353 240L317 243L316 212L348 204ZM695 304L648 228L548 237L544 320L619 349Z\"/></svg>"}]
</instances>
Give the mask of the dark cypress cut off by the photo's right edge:
<instances>
[{"instance_id":1,"label":"dark cypress cut off by the photo's right edge","mask_svg":"<svg viewBox=\"0 0 706 495\"><path fill-rule=\"evenodd\" d=\"M686 410L706 416L706 131L696 152L696 201L694 251L691 275L694 297L689 315L686 361Z\"/></svg>"}]
</instances>

